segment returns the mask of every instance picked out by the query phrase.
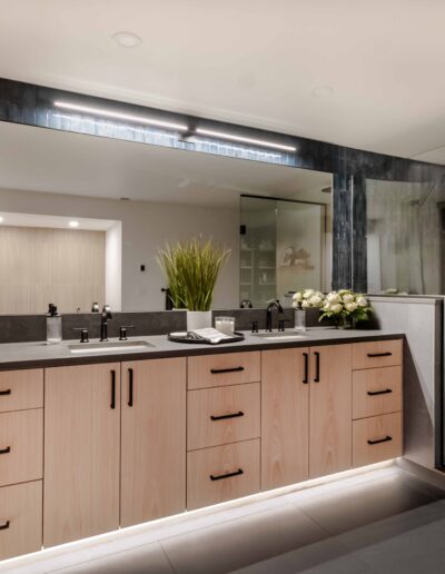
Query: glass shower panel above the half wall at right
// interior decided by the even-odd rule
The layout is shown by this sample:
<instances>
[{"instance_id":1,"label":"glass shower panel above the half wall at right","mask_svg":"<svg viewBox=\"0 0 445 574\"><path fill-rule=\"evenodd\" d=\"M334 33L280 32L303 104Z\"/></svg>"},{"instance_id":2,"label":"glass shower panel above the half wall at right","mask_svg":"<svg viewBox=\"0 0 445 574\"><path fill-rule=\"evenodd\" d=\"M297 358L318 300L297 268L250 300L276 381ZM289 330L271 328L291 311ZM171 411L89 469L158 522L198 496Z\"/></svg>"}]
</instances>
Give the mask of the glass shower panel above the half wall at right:
<instances>
[{"instance_id":1,"label":"glass shower panel above the half wall at right","mask_svg":"<svg viewBox=\"0 0 445 574\"><path fill-rule=\"evenodd\" d=\"M368 293L444 293L444 199L435 182L366 180Z\"/></svg>"}]
</instances>

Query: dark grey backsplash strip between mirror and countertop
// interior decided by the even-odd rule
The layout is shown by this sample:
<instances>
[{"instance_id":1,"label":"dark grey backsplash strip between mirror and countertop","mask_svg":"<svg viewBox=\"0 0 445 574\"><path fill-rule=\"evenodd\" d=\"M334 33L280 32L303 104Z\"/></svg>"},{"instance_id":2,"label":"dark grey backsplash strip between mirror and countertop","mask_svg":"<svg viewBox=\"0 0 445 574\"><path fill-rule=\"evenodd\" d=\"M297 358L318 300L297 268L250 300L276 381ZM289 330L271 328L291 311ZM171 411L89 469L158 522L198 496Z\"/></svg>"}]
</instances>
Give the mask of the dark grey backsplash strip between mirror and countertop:
<instances>
[{"instance_id":1,"label":"dark grey backsplash strip between mirror and countertop","mask_svg":"<svg viewBox=\"0 0 445 574\"><path fill-rule=\"evenodd\" d=\"M266 328L266 309L222 309L214 310L212 316L231 316L236 318L237 330L249 330L251 321L257 320L259 329ZM294 326L294 309L285 308L284 316L288 319L286 328ZM108 321L108 336L118 337L119 327L134 325L128 336L167 335L167 333L186 329L186 311L152 311L152 313L113 313ZM274 311L274 329L277 328L277 314ZM307 326L318 324L318 309L308 309ZM80 338L76 328L88 328L90 339L100 336L100 314L79 313L62 315L63 339ZM0 315L0 343L29 343L46 340L47 323L44 315Z\"/></svg>"}]
</instances>

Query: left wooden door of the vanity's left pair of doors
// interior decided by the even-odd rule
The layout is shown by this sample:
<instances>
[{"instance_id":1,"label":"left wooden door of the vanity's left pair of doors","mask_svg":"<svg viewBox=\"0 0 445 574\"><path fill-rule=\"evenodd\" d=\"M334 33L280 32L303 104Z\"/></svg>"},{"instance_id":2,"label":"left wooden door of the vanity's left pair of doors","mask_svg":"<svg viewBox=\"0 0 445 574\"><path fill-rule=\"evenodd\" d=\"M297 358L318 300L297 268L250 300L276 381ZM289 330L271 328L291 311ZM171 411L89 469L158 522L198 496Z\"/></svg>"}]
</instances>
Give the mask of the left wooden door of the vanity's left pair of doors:
<instances>
[{"instance_id":1,"label":"left wooden door of the vanity's left pair of doors","mask_svg":"<svg viewBox=\"0 0 445 574\"><path fill-rule=\"evenodd\" d=\"M43 544L119 527L120 365L46 369Z\"/></svg>"}]
</instances>

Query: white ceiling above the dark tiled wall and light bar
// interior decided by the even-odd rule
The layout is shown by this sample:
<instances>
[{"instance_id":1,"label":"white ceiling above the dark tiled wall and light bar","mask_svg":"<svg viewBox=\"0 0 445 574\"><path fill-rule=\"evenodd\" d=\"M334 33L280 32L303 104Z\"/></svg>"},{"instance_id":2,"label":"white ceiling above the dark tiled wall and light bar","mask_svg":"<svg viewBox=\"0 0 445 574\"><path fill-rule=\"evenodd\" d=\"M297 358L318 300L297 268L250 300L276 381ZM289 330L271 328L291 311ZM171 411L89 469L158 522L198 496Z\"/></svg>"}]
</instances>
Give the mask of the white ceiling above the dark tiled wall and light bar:
<instances>
[{"instance_id":1,"label":"white ceiling above the dark tiled wall and light bar","mask_svg":"<svg viewBox=\"0 0 445 574\"><path fill-rule=\"evenodd\" d=\"M445 164L443 0L0 0L0 77ZM142 43L118 46L119 31ZM332 95L317 96L323 87Z\"/></svg>"}]
</instances>

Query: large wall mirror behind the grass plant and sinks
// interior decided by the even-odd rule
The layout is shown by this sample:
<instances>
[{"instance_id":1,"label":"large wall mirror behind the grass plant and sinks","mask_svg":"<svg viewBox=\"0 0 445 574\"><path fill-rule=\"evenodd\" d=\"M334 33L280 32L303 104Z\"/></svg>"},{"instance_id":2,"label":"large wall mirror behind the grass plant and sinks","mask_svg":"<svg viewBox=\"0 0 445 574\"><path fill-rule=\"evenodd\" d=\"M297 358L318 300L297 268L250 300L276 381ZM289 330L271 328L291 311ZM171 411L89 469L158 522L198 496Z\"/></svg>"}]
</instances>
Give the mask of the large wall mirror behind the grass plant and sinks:
<instances>
[{"instance_id":1,"label":"large wall mirror behind the grass plant and sinks","mask_svg":"<svg viewBox=\"0 0 445 574\"><path fill-rule=\"evenodd\" d=\"M0 122L0 314L165 309L158 250L194 236L231 249L214 308L329 289L330 190L330 174Z\"/></svg>"}]
</instances>

